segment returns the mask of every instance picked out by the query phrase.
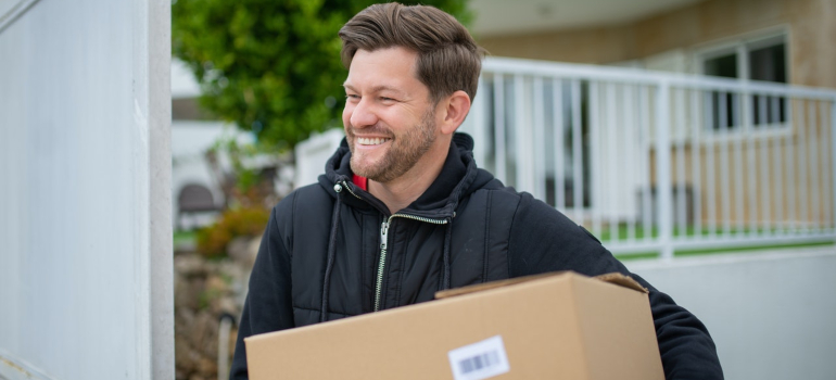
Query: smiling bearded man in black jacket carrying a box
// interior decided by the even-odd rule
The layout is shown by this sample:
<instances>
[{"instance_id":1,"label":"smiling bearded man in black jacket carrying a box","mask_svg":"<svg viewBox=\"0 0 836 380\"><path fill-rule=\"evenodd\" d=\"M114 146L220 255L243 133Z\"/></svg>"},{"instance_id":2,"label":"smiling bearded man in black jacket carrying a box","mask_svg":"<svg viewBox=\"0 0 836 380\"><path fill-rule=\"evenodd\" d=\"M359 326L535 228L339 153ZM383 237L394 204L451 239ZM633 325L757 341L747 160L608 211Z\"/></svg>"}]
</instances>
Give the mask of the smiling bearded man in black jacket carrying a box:
<instances>
[{"instance_id":1,"label":"smiling bearded man in black jacket carrying a box","mask_svg":"<svg viewBox=\"0 0 836 380\"><path fill-rule=\"evenodd\" d=\"M554 207L477 168L456 134L482 50L430 7L371 5L340 30L346 138L319 183L273 211L250 278L243 338L430 301L438 290L553 270L630 274ZM692 314L650 289L668 379L722 379ZM327 365L327 364L322 364Z\"/></svg>"}]
</instances>

